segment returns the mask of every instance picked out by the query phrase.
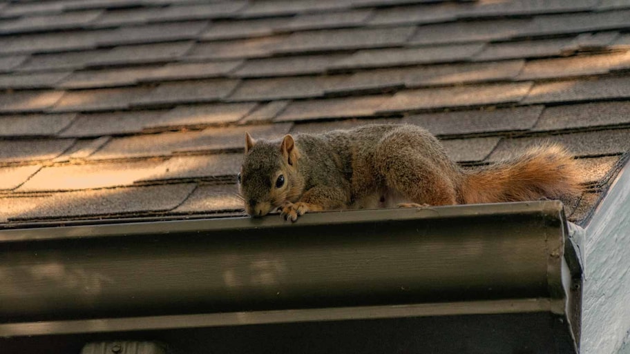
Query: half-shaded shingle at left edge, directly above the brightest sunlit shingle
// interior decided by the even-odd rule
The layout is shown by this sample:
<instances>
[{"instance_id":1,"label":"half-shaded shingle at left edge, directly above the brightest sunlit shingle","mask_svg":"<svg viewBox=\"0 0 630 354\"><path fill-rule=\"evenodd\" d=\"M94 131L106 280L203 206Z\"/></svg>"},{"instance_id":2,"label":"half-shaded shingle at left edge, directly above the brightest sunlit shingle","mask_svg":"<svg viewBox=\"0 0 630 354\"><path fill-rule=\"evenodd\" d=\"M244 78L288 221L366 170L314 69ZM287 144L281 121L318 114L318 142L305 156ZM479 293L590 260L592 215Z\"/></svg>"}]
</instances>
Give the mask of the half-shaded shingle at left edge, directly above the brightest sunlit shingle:
<instances>
[{"instance_id":1,"label":"half-shaded shingle at left edge, directly above the brightest sunlit shingle","mask_svg":"<svg viewBox=\"0 0 630 354\"><path fill-rule=\"evenodd\" d=\"M0 161L23 162L54 159L70 148L74 142L74 139L0 140Z\"/></svg>"}]
</instances>

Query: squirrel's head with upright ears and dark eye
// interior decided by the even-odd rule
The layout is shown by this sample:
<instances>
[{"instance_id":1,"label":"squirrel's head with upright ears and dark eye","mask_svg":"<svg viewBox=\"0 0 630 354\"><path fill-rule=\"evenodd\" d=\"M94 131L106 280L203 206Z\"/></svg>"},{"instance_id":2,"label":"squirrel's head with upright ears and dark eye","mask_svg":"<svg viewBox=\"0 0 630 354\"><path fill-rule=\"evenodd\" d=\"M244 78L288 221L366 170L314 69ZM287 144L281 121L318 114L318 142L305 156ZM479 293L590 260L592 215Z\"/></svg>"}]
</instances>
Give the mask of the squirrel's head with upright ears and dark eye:
<instances>
[{"instance_id":1,"label":"squirrel's head with upright ears and dark eye","mask_svg":"<svg viewBox=\"0 0 630 354\"><path fill-rule=\"evenodd\" d=\"M245 157L238 190L247 214L260 217L285 201L295 202L304 183L297 170L300 154L291 135L282 141L255 141L245 133Z\"/></svg>"}]
</instances>

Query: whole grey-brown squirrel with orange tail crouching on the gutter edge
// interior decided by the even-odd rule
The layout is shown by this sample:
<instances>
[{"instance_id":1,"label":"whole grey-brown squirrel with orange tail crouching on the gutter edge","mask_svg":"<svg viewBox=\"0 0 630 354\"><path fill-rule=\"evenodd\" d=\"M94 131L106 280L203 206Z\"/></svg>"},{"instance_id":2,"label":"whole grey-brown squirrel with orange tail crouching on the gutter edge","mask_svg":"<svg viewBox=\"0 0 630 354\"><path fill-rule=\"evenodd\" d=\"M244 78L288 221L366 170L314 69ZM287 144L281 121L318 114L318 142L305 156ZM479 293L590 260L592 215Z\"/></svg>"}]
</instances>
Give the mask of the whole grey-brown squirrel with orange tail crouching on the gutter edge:
<instances>
[{"instance_id":1,"label":"whole grey-brown squirrel with orange tail crouching on the gutter edge","mask_svg":"<svg viewBox=\"0 0 630 354\"><path fill-rule=\"evenodd\" d=\"M246 132L237 180L247 214L280 208L292 222L320 210L557 199L581 190L575 159L560 145L544 143L519 157L463 168L428 130L410 124L274 141L255 141Z\"/></svg>"}]
</instances>

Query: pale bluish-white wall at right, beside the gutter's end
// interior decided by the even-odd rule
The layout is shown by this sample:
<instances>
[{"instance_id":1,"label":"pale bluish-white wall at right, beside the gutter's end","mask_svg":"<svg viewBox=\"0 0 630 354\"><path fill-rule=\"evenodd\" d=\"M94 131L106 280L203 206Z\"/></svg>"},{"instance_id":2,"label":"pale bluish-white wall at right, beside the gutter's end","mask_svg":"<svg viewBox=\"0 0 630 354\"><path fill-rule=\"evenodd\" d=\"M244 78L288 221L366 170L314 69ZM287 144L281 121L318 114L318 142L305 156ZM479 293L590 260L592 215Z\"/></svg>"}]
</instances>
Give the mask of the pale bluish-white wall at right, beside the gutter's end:
<instances>
[{"instance_id":1,"label":"pale bluish-white wall at right, beside the gutter's end","mask_svg":"<svg viewBox=\"0 0 630 354\"><path fill-rule=\"evenodd\" d=\"M630 168L627 165L586 227L582 354L630 353L630 348L623 348L630 330Z\"/></svg>"}]
</instances>

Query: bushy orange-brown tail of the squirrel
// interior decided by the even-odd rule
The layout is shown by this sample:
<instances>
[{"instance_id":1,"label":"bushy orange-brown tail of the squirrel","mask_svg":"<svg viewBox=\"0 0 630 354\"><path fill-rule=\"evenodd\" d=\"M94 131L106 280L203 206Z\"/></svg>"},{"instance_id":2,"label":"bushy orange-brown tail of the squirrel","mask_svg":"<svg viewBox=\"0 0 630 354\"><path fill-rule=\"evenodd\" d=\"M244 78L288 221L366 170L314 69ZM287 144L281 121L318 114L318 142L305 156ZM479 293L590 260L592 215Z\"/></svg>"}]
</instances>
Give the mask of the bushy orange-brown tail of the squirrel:
<instances>
[{"instance_id":1,"label":"bushy orange-brown tail of the squirrel","mask_svg":"<svg viewBox=\"0 0 630 354\"><path fill-rule=\"evenodd\" d=\"M542 144L497 164L464 171L465 204L552 199L580 192L580 170L569 152Z\"/></svg>"}]
</instances>

